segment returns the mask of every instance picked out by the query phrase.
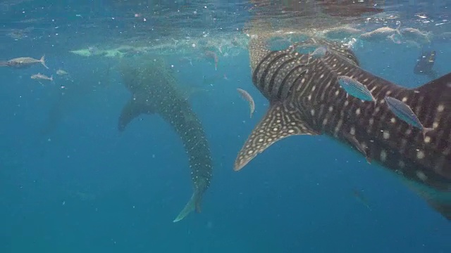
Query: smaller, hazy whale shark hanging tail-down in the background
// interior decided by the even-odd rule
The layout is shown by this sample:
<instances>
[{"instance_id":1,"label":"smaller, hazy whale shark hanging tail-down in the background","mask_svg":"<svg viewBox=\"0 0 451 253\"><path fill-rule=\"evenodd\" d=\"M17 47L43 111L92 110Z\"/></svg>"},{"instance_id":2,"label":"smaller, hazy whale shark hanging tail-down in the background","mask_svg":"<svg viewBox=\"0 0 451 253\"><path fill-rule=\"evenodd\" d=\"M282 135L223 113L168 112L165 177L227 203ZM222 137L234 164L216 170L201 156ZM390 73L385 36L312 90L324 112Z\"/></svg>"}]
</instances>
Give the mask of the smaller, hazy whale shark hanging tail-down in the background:
<instances>
[{"instance_id":1,"label":"smaller, hazy whale shark hanging tail-down in the background","mask_svg":"<svg viewBox=\"0 0 451 253\"><path fill-rule=\"evenodd\" d=\"M144 59L125 63L122 70L123 84L132 93L118 121L119 131L124 131L133 119L141 114L158 114L171 124L183 141L190 161L194 193L187 205L174 219L180 221L190 212L200 212L202 195L211 181L211 155L202 124L192 111L190 103L178 91L171 70L163 60ZM134 67L132 67L134 66Z\"/></svg>"}]
</instances>

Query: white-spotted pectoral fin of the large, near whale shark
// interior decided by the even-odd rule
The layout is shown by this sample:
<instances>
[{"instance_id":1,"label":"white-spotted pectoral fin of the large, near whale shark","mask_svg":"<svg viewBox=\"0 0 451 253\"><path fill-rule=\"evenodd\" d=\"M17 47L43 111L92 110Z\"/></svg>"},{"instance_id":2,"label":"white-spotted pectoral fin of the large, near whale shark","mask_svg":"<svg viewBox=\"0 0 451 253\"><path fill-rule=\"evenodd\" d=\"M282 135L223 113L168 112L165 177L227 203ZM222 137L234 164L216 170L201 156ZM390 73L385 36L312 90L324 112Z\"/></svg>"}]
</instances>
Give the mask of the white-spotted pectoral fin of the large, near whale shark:
<instances>
[{"instance_id":1,"label":"white-spotted pectoral fin of the large, near whale shark","mask_svg":"<svg viewBox=\"0 0 451 253\"><path fill-rule=\"evenodd\" d=\"M242 169L259 153L282 138L304 134L315 135L318 133L302 121L302 112L295 105L287 102L271 103L268 112L252 130L245 145L238 153L233 169L235 171Z\"/></svg>"}]
</instances>

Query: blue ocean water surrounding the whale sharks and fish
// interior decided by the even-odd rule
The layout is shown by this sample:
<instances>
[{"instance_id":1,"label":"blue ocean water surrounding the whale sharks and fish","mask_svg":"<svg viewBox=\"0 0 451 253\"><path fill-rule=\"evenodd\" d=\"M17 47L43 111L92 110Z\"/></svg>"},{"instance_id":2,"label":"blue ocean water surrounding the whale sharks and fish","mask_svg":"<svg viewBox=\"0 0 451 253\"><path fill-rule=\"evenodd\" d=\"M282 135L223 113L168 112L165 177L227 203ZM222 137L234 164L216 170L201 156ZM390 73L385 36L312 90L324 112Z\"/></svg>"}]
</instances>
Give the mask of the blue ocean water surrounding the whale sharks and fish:
<instances>
[{"instance_id":1,"label":"blue ocean water surrounding the whale sharks and fish","mask_svg":"<svg viewBox=\"0 0 451 253\"><path fill-rule=\"evenodd\" d=\"M221 27L230 39L252 18L246 11L252 4L210 2L222 12L206 14L197 3L193 9L206 25L183 27L190 24L177 20L183 15L164 22L165 13L190 2L153 2L163 6L159 11L150 11L148 1L124 2L0 4L1 59L45 54L50 67L0 68L0 252L451 252L449 221L387 169L327 136L283 139L233 171L237 152L268 108L252 84L246 48L222 54L217 70L199 51L183 51L192 64L181 60L176 43L157 52L173 65L183 89L193 89L190 104L214 162L202 213L173 223L192 194L180 139L157 115L142 115L119 133L118 116L130 98L120 59L70 51L143 38L154 46L163 36L180 43L190 37L190 48L197 37L223 39ZM412 27L431 25L413 20L426 15L438 34L451 32L450 8L449 1L398 1L388 10ZM364 25L395 27L395 21ZM146 28L143 34L133 32L137 26ZM451 72L450 45L439 39L427 45L438 52L440 75ZM353 50L365 70L396 84L431 80L412 71L421 46L357 40ZM58 69L70 77L56 75ZM30 79L37 72L55 81ZM252 119L237 88L255 100Z\"/></svg>"}]
</instances>

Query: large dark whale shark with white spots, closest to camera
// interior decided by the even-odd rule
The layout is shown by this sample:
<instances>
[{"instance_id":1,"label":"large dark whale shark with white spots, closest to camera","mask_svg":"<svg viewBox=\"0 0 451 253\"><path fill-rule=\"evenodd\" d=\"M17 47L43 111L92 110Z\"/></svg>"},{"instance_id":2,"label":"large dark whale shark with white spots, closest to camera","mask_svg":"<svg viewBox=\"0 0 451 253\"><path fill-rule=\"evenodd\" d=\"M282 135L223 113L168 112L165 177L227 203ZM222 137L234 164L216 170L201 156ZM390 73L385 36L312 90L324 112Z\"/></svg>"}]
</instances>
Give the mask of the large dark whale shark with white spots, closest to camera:
<instances>
[{"instance_id":1,"label":"large dark whale shark with white spots, closest to camera","mask_svg":"<svg viewBox=\"0 0 451 253\"><path fill-rule=\"evenodd\" d=\"M451 220L451 73L406 89L362 70L354 53L338 43L317 40L328 52L305 65L307 54L270 51L268 37L254 32L249 54L252 81L270 107L238 153L235 171L282 138L326 134L400 175ZM368 87L376 105L346 96L338 84L340 75ZM424 138L420 129L397 119L385 96L402 100L434 131Z\"/></svg>"}]
</instances>

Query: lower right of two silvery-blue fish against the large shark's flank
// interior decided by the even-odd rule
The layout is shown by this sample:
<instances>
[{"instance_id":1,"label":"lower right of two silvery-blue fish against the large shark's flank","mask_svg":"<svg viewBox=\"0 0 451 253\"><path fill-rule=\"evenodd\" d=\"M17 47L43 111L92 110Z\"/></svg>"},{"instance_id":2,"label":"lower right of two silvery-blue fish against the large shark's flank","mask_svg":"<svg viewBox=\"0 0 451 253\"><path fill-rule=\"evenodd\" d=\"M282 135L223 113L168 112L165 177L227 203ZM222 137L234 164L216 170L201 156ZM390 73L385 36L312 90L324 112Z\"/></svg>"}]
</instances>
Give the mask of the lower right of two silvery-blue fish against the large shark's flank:
<instances>
[{"instance_id":1,"label":"lower right of two silvery-blue fish against the large shark's flank","mask_svg":"<svg viewBox=\"0 0 451 253\"><path fill-rule=\"evenodd\" d=\"M393 112L393 114L396 115L396 117L400 118L407 124L423 131L423 136L425 136L428 131L433 130L433 128L425 128L419 121L418 117L416 117L412 109L409 107L409 105L406 105L404 102L390 96L385 97L385 102L387 103L388 108Z\"/></svg>"}]
</instances>

